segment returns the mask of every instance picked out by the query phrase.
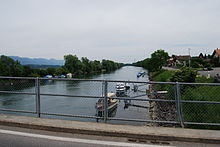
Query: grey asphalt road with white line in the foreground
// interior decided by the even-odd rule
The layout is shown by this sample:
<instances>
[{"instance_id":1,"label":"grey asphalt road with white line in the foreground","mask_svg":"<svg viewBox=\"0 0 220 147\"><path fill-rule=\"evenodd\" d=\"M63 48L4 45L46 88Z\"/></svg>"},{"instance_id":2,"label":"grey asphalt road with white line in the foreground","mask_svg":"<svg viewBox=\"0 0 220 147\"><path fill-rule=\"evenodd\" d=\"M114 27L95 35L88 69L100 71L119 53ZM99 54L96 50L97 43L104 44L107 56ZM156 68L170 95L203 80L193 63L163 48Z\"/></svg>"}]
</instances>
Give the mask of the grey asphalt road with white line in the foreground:
<instances>
[{"instance_id":1,"label":"grey asphalt road with white line in the foreground","mask_svg":"<svg viewBox=\"0 0 220 147\"><path fill-rule=\"evenodd\" d=\"M146 141L137 143L128 138L77 135L0 126L1 147L217 147L218 144Z\"/></svg>"}]
</instances>

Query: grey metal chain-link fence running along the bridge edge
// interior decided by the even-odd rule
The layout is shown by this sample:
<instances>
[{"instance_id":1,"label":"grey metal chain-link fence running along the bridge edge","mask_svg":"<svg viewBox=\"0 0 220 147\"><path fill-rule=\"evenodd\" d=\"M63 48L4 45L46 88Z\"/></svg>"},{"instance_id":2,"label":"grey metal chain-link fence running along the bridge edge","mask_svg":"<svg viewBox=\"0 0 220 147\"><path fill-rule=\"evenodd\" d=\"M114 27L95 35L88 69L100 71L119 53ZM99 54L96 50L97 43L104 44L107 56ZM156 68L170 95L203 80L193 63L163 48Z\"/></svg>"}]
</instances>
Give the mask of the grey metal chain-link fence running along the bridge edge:
<instances>
[{"instance_id":1,"label":"grey metal chain-link fence running along the bridge edge","mask_svg":"<svg viewBox=\"0 0 220 147\"><path fill-rule=\"evenodd\" d=\"M220 84L0 77L0 111L108 123L220 128Z\"/></svg>"}]
</instances>

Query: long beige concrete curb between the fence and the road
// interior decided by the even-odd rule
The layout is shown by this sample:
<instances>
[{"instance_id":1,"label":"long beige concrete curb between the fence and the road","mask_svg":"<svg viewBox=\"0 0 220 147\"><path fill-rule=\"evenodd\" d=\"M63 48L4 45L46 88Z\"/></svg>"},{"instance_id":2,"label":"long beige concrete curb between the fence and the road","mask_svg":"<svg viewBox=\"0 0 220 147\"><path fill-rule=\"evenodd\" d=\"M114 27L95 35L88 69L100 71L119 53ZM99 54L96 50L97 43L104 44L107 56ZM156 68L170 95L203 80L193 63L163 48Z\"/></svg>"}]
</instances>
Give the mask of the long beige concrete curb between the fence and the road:
<instances>
[{"instance_id":1,"label":"long beige concrete curb between the fence and the road","mask_svg":"<svg viewBox=\"0 0 220 147\"><path fill-rule=\"evenodd\" d=\"M182 128L113 125L93 122L35 118L0 114L0 124L54 132L127 137L142 140L220 144L220 131Z\"/></svg>"}]
</instances>

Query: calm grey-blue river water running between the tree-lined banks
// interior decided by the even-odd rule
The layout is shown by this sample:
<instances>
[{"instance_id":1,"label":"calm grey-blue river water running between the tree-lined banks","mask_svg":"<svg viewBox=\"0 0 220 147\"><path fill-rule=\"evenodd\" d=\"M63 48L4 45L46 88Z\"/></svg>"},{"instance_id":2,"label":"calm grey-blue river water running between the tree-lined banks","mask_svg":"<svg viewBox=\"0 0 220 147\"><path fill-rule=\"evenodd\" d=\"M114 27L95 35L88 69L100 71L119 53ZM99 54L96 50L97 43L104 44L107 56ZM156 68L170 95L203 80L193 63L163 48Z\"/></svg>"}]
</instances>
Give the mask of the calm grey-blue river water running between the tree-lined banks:
<instances>
[{"instance_id":1,"label":"calm grey-blue river water running between the tree-lined banks","mask_svg":"<svg viewBox=\"0 0 220 147\"><path fill-rule=\"evenodd\" d=\"M119 70L108 74L100 74L88 79L105 79L105 80L124 80L124 81L148 81L148 74L144 77L137 78L137 73L145 71L141 67L125 66ZM25 86L25 84L20 84L15 91L19 92L35 92L35 87L33 84ZM108 92L115 92L116 83L108 83ZM10 85L11 86L11 85ZM134 92L132 89L128 91L130 96L141 95L146 91L146 87L142 86L139 91ZM102 95L103 84L101 82L92 81L44 81L41 84L41 93L51 93L51 94L69 94L69 95L90 95L90 96L101 96ZM139 98L146 98L139 97ZM52 96L41 96L41 112L49 113L63 113L63 114L73 114L73 115L87 115L95 116L96 109L95 104L98 99L92 98L70 98L70 97L52 97ZM148 102L141 101L131 101L129 104L121 100L115 109L110 114L110 117L114 118L129 118L129 119L149 119L148 115ZM36 101L35 96L31 95L18 95L18 94L1 94L0 95L0 108L6 109L16 109L16 110L29 110L35 111ZM5 113L5 112L4 112ZM18 113L19 114L19 113ZM24 114L22 114L24 115ZM31 114L25 114L31 115ZM42 116L47 118L61 118L61 119L71 119L71 120L81 120L81 121L97 121L88 118L65 118L58 116ZM137 122L118 122L111 120L110 123L121 123L121 124L144 124Z\"/></svg>"}]
</instances>

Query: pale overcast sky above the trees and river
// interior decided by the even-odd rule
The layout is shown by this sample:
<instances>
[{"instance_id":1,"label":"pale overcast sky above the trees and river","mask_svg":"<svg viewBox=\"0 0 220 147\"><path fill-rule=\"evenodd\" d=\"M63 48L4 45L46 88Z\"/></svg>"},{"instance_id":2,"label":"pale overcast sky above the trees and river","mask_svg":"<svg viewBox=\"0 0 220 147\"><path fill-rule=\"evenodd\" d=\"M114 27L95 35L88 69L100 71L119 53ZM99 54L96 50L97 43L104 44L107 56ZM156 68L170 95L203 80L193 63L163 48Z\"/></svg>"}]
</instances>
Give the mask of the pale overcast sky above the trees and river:
<instances>
[{"instance_id":1,"label":"pale overcast sky above the trees and river","mask_svg":"<svg viewBox=\"0 0 220 147\"><path fill-rule=\"evenodd\" d=\"M131 63L220 48L219 0L0 0L0 54Z\"/></svg>"}]
</instances>

